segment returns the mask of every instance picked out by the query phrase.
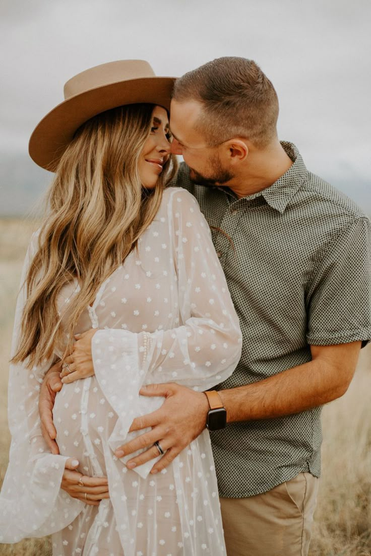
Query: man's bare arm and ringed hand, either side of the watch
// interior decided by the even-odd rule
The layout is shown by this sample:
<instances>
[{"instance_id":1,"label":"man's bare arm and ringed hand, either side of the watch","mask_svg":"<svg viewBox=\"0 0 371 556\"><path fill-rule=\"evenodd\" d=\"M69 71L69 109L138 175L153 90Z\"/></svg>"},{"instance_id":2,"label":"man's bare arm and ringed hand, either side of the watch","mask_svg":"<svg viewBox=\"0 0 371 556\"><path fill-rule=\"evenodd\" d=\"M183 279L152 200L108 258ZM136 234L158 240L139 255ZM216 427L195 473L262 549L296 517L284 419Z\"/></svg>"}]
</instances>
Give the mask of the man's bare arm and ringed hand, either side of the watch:
<instances>
[{"instance_id":1,"label":"man's bare arm and ringed hand, either side of the watch","mask_svg":"<svg viewBox=\"0 0 371 556\"><path fill-rule=\"evenodd\" d=\"M227 420L273 419L300 413L339 398L352 380L360 344L311 346L313 359L308 363L258 383L220 390ZM205 394L177 384L153 384L142 388L140 393L165 396L166 399L159 410L135 419L130 429L152 427L152 430L120 446L116 455L122 457L160 441L167 451L152 468L151 473L157 473L204 430L209 404ZM128 461L127 466L133 468L153 457L153 450L146 450Z\"/></svg>"}]
</instances>

